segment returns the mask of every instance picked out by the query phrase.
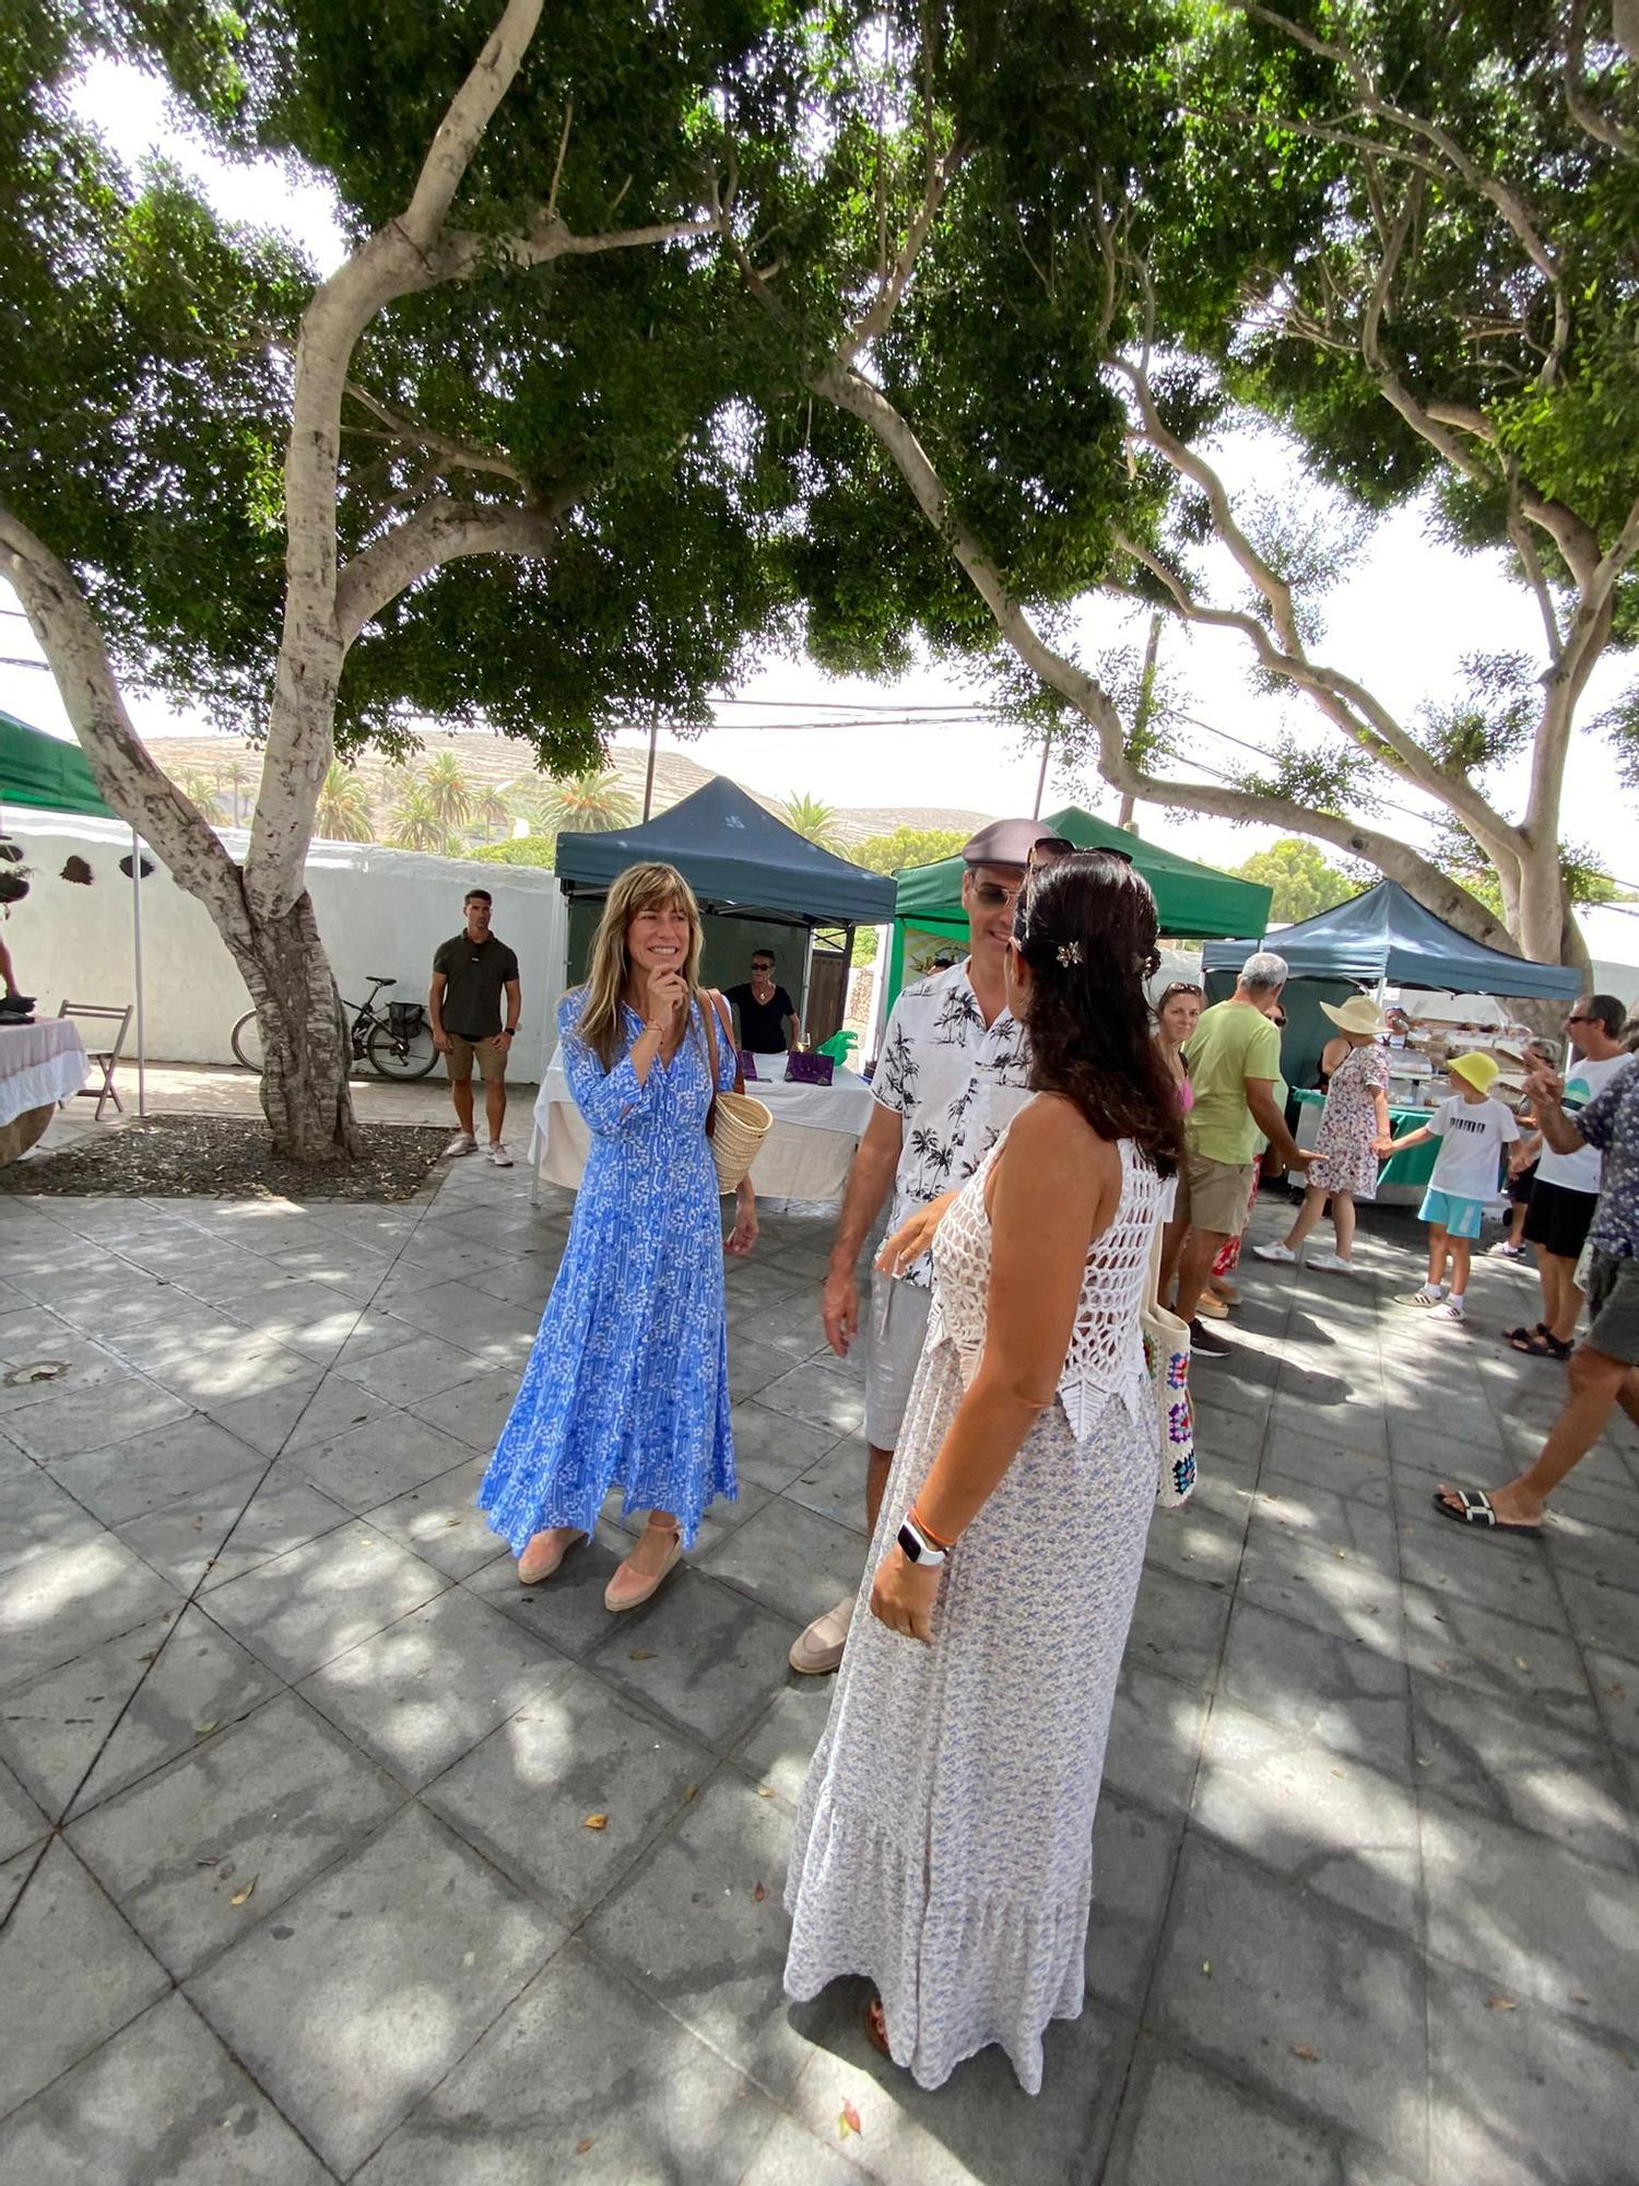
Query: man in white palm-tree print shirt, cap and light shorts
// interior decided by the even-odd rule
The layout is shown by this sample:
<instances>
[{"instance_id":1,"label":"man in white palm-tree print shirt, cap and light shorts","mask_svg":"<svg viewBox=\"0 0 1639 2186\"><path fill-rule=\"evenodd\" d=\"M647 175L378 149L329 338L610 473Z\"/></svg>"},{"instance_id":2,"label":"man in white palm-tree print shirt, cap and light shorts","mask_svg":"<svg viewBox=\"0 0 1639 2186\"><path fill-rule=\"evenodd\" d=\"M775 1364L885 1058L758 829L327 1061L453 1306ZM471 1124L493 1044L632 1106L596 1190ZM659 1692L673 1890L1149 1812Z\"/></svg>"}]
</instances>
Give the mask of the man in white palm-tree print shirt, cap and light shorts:
<instances>
[{"instance_id":1,"label":"man in white palm-tree print shirt, cap and light shorts","mask_svg":"<svg viewBox=\"0 0 1639 2186\"><path fill-rule=\"evenodd\" d=\"M892 1187L892 1229L918 1207L964 1185L1029 1100L1029 1043L1007 1008L1003 964L1031 859L1075 846L1036 820L994 820L962 850L968 955L951 971L907 986L894 1003L872 1078L876 1106L859 1141L824 1290L826 1342L848 1355L859 1331L854 1268ZM865 1360L865 1532L887 1489L905 1403L922 1358L933 1301L933 1257L872 1277ZM837 1602L791 1648L809 1677L835 1670L848 1642L854 1596Z\"/></svg>"}]
</instances>

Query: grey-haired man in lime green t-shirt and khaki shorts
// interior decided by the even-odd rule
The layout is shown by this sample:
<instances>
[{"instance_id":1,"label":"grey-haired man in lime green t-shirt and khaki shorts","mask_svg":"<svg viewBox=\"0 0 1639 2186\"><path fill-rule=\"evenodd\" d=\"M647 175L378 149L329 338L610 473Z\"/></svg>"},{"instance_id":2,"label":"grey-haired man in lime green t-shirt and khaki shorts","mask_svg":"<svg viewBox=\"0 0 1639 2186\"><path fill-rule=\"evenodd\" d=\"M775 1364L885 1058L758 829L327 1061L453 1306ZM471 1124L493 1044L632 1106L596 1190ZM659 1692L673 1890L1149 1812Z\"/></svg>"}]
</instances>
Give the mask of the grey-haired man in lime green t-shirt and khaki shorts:
<instances>
[{"instance_id":1,"label":"grey-haired man in lime green t-shirt and khaki shorts","mask_svg":"<svg viewBox=\"0 0 1639 2186\"><path fill-rule=\"evenodd\" d=\"M1298 1152L1274 1102L1281 1034L1267 1012L1285 984L1285 957L1270 949L1254 951L1241 964L1230 999L1202 1012L1184 1047L1195 1100L1184 1117L1184 1163L1174 1209L1176 1220L1189 1222L1178 1264L1178 1318L1189 1323L1189 1347L1202 1358L1228 1358L1233 1351L1195 1307L1213 1261L1246 1229L1259 1139L1267 1139L1289 1170L1307 1170L1316 1159Z\"/></svg>"}]
</instances>

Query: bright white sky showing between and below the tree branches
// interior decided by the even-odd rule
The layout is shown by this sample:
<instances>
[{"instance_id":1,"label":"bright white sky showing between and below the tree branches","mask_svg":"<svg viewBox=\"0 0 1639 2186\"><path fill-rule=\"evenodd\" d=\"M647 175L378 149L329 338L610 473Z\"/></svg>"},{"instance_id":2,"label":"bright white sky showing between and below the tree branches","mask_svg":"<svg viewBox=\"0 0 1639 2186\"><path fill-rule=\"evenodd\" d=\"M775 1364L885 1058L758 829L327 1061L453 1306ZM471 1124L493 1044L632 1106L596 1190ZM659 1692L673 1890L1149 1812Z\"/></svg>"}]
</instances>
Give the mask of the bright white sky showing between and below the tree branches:
<instances>
[{"instance_id":1,"label":"bright white sky showing between and below the tree branches","mask_svg":"<svg viewBox=\"0 0 1639 2186\"><path fill-rule=\"evenodd\" d=\"M227 166L205 157L184 131L170 125L157 83L129 68L98 66L79 90L79 109L127 160L162 149L194 173L229 219L269 221L288 230L321 269L332 267L343 240L330 197L317 179L286 175L269 164ZM1233 492L1302 496L1305 481L1272 437L1241 435L1219 450ZM68 719L50 675L15 667L37 660L26 623L15 616L15 599L0 586L0 706L37 728L68 734ZM1086 603L1077 616L1084 665L1117 643L1141 645L1143 625L1123 616L1115 601ZM1410 507L1390 516L1368 551L1351 566L1326 603L1326 636L1316 658L1357 675L1392 713L1412 719L1429 700L1458 691L1458 660L1473 651L1536 651L1541 630L1528 595L1512 586L1499 557L1458 555L1427 531L1427 514ZM1187 710L1211 730L1195 732L1195 756L1226 774L1267 752L1283 726L1302 724L1302 706L1281 708L1250 691L1246 645L1219 632L1163 630L1163 662L1184 686ZM1591 721L1624 684L1624 667L1606 662L1595 673L1582 704ZM955 673L929 665L892 684L830 680L806 660L774 651L754 665L747 680L717 708L717 724L699 739L662 745L688 752L699 765L730 774L774 796L809 794L828 804L935 804L988 813L1027 813L1036 796L1040 748L1023 750L1012 726L988 721L929 726L894 719L907 708L972 708L983 691ZM868 726L813 726L850 715ZM144 734L208 734L205 724L177 715L160 702L133 706ZM800 726L793 726L800 724ZM642 739L621 737L621 743ZM1248 745L1252 750L1248 750ZM1049 767L1045 811L1069 800L1073 783ZM1115 794L1082 783L1080 802L1115 815ZM1506 813L1523 798L1523 767L1504 772L1493 794ZM1392 809L1379 824L1427 846L1427 813L1434 809L1412 791L1392 791ZM1272 828L1233 826L1224 820L1139 809L1139 828L1184 857L1235 866L1274 839ZM1639 831L1632 798L1622 789L1608 748L1582 732L1569 761L1565 791L1565 835L1587 846L1626 885L1639 888Z\"/></svg>"}]
</instances>

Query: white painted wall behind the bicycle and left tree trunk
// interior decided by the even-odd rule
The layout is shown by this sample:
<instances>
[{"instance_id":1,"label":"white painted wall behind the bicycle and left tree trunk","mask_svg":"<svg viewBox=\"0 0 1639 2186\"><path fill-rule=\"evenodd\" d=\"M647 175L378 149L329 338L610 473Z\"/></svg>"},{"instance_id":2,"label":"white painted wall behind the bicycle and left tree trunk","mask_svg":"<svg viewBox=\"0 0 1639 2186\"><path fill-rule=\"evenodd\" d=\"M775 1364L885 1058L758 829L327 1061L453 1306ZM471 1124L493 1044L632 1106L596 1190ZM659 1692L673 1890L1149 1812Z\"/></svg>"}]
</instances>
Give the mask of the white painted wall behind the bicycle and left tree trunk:
<instances>
[{"instance_id":1,"label":"white painted wall behind the bicycle and left tree trunk","mask_svg":"<svg viewBox=\"0 0 1639 2186\"><path fill-rule=\"evenodd\" d=\"M118 861L131 850L131 831L111 820L22 815L13 807L4 833L22 844L24 863L33 868L26 901L13 905L0 927L22 992L37 997L42 1016L55 1014L66 995L125 1008L135 999L131 883ZM232 857L243 857L247 837L223 828L223 844ZM92 868L90 888L61 879L70 855ZM251 1006L245 982L210 914L157 859L153 868L142 883L149 1060L232 1062L227 1036ZM365 975L374 971L398 979L393 999L424 1001L433 951L461 929L468 888L490 890L494 931L518 951L524 1030L514 1071L516 1082L535 1082L564 992L568 920L555 874L380 844L317 842L308 855L319 931L347 1001L365 999ZM127 1054L135 1054L135 1025Z\"/></svg>"}]
</instances>

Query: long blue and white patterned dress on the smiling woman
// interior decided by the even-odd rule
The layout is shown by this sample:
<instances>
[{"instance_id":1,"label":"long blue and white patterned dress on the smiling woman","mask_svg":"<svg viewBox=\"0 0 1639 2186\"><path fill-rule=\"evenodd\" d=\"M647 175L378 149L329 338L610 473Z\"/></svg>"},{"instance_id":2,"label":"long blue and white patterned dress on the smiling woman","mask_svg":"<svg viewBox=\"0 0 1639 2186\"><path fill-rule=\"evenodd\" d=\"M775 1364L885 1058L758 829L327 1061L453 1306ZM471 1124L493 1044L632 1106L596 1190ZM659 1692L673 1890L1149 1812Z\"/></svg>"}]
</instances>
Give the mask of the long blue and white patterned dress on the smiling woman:
<instances>
[{"instance_id":1,"label":"long blue and white patterned dress on the smiling woman","mask_svg":"<svg viewBox=\"0 0 1639 2186\"><path fill-rule=\"evenodd\" d=\"M581 1001L564 997L557 1034L592 1143L540 1336L479 1489L514 1556L546 1526L590 1532L614 1484L625 1511L671 1511L684 1548L706 1504L736 1493L699 1003L671 1062L656 1060L638 1084L636 1012L625 1010L625 1047L605 1071L579 1038ZM717 1073L732 1091L728 1038Z\"/></svg>"}]
</instances>

